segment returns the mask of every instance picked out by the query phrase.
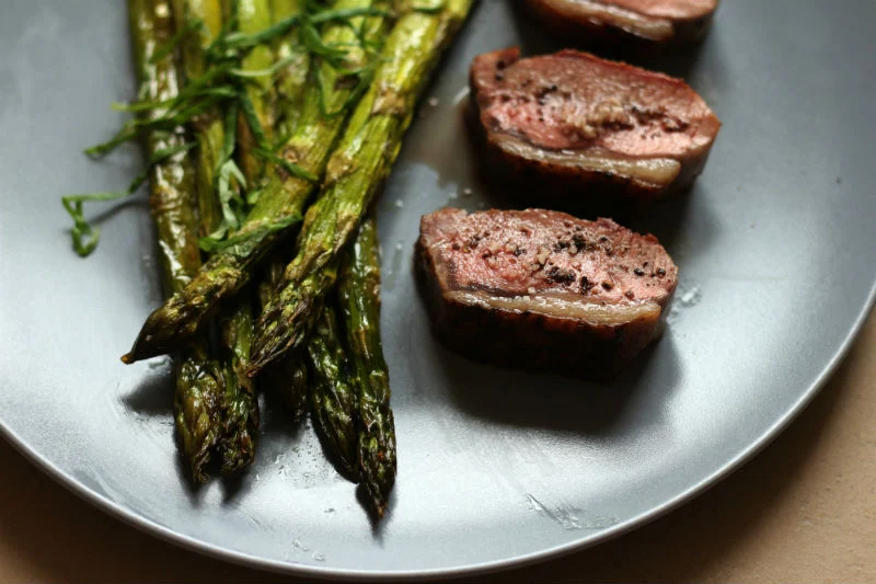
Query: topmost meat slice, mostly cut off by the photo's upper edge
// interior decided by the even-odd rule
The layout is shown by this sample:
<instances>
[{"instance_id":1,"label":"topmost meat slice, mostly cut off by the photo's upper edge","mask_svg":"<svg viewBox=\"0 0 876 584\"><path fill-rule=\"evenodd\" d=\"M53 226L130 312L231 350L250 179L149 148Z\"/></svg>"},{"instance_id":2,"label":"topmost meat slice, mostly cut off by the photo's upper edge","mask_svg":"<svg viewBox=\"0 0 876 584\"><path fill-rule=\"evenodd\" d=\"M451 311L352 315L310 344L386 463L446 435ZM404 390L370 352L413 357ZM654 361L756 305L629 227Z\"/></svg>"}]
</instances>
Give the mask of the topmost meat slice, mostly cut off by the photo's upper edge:
<instances>
[{"instance_id":1,"label":"topmost meat slice, mostly cut off by the photo's upper edge","mask_svg":"<svg viewBox=\"0 0 876 584\"><path fill-rule=\"evenodd\" d=\"M718 0L526 0L539 19L581 41L635 38L648 43L702 37Z\"/></svg>"}]
</instances>

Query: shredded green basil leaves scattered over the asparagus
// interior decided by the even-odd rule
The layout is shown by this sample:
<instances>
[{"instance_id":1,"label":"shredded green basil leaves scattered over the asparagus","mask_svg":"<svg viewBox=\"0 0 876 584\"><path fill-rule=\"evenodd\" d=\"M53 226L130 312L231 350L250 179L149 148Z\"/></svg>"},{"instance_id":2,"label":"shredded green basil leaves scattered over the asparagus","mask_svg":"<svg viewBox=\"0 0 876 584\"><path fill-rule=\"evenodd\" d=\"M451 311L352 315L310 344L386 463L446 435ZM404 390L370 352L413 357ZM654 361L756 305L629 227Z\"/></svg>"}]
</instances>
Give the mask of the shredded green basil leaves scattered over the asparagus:
<instances>
[{"instance_id":1,"label":"shredded green basil leaves scattered over the asparagus","mask_svg":"<svg viewBox=\"0 0 876 584\"><path fill-rule=\"evenodd\" d=\"M436 3L435 1L423 0L414 2L414 4L416 4L415 10L439 10L442 1L439 0ZM241 238L253 237L254 231L251 231L249 236L235 234L235 231L243 225L246 213L257 201L261 191L255 188L255 185L246 184L241 169L234 161L239 117L243 119L252 134L255 142L253 148L254 156L278 167L290 176L312 183L319 182L319 176L315 176L307 169L274 153L275 148L268 144L255 107L246 94L246 84L251 83L252 79L277 76L279 71L293 62L298 56L292 55L257 71L242 70L240 68L240 59L254 47L268 45L297 27L299 32L298 41L301 44L300 48L308 53L316 64L314 69L320 91L321 114L325 117L339 115L348 108L350 103L361 98L368 89L377 67L382 62L377 56L380 48L379 44L368 43L365 38L366 23L362 22L358 27L353 23L353 19L367 16L391 18L392 14L385 10L374 8L335 10L325 2L309 0L304 12L301 14L290 16L253 34L235 32L234 19L229 19L223 23L220 33L206 48L209 67L203 75L188 79L185 87L180 90L180 93L169 100L143 99L148 91L148 88L143 85L139 91L140 99L134 103L113 104L114 110L128 112L137 117L126 122L112 138L87 148L84 152L92 158L103 158L119 146L141 138L146 133L178 133L181 128L195 123L198 117L212 115L212 112L221 108L224 111L224 142L222 145L222 157L215 172L214 188L221 204L222 222L208 237L201 238L200 245L206 251L218 251L230 245L240 245L244 241ZM357 42L351 44L324 43L319 28L326 23L348 25L356 31ZM204 27L204 22L198 19L187 20L166 43L155 49L150 62L154 64L166 58L181 42L195 32L203 33ZM351 50L365 53L365 65L358 68L349 68ZM320 64L325 64L333 68L336 71L337 81L349 83L348 87L353 88L345 103L336 111L328 111L326 105L326 94L334 91L335 88L326 87L327 82L324 79L323 67ZM125 192L90 193L62 197L64 207L73 219L71 236L73 249L77 253L82 256L89 255L94 251L100 240L100 229L85 220L83 214L84 203L113 201L132 194L147 181L150 171L155 164L188 151L194 146L195 144L185 144L155 152L148 161L146 170L135 178ZM247 188L250 190L249 192ZM290 219L288 225L291 225L295 220L298 219ZM260 229L267 229L267 232L270 232L284 227L286 227L285 222L280 221Z\"/></svg>"}]
</instances>

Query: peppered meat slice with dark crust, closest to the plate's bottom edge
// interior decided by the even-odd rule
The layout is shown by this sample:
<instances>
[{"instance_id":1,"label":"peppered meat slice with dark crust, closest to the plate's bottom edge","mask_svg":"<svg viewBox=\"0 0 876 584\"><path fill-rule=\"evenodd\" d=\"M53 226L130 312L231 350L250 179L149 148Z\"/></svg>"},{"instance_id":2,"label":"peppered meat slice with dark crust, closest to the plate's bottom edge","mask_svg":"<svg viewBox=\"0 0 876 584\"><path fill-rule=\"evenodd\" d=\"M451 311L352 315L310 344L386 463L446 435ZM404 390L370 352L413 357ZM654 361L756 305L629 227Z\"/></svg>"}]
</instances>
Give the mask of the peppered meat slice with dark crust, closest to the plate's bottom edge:
<instances>
[{"instance_id":1,"label":"peppered meat slice with dark crust, closest to the plate's bottom edge","mask_svg":"<svg viewBox=\"0 0 876 584\"><path fill-rule=\"evenodd\" d=\"M551 210L442 209L417 263L448 346L510 367L612 370L659 331L678 268L653 236Z\"/></svg>"}]
</instances>

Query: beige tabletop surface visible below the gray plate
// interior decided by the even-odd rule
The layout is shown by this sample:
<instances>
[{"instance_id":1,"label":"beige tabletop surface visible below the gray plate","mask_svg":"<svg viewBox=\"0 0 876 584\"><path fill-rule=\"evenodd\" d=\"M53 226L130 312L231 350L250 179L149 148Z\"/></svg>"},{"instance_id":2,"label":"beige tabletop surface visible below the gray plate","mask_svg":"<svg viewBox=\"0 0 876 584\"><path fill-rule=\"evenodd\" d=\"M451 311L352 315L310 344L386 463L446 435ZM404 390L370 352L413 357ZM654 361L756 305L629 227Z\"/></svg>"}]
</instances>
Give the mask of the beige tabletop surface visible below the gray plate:
<instances>
[{"instance_id":1,"label":"beige tabletop surface visible below the gray plate","mask_svg":"<svg viewBox=\"0 0 876 584\"><path fill-rule=\"evenodd\" d=\"M0 581L281 581L92 508L0 440ZM876 582L876 316L812 404L692 503L606 545L471 582Z\"/></svg>"}]
</instances>

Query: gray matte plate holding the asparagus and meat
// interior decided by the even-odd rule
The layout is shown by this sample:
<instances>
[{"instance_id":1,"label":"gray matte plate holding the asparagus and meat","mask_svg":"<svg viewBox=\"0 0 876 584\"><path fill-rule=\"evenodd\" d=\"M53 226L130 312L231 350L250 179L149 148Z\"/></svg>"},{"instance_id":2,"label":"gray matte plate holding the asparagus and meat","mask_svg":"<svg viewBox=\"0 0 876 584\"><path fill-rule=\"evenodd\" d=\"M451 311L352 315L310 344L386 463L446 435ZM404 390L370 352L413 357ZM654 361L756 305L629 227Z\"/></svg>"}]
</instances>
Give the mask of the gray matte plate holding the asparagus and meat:
<instances>
[{"instance_id":1,"label":"gray matte plate holding the asparagus and meat","mask_svg":"<svg viewBox=\"0 0 876 584\"><path fill-rule=\"evenodd\" d=\"M243 479L201 490L184 479L166 363L118 362L160 301L143 198L112 214L87 261L70 251L58 202L120 187L140 164L135 149L103 164L78 154L122 122L108 103L134 92L124 2L7 0L7 438L138 527L228 560L323 576L460 574L580 549L690 499L772 438L837 364L873 299L876 3L724 2L705 44L662 64L725 125L690 196L635 220L666 242L682 277L667 334L613 387L447 352L413 285L420 214L496 204L472 179L454 104L474 55L529 35L508 4L482 2L379 205L400 473L390 517L372 529L312 430L289 428L272 403ZM469 187L474 195L463 196Z\"/></svg>"}]
</instances>

